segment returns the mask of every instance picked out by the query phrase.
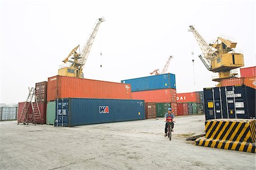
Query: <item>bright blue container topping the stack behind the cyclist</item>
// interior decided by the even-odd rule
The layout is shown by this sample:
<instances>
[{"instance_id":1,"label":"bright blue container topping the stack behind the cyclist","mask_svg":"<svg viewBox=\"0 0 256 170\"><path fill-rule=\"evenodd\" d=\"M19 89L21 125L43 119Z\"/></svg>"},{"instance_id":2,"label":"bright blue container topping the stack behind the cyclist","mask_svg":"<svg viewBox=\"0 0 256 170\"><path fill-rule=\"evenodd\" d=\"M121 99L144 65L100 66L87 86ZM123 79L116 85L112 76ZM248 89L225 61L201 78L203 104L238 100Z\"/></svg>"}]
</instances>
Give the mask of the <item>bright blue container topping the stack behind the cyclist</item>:
<instances>
[{"instance_id":1,"label":"bright blue container topping the stack behind the cyclist","mask_svg":"<svg viewBox=\"0 0 256 170\"><path fill-rule=\"evenodd\" d=\"M131 84L132 92L176 88L175 74L171 73L121 80L121 83Z\"/></svg>"}]
</instances>

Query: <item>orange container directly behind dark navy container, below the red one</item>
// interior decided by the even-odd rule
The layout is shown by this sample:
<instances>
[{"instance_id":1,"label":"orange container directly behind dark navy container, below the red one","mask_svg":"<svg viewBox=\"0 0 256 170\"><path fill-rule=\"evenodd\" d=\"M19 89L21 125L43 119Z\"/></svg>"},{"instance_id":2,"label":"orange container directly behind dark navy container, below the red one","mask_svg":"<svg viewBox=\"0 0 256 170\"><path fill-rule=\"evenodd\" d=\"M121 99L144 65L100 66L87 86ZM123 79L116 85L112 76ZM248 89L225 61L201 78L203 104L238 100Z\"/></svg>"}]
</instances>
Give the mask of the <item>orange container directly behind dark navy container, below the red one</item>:
<instances>
[{"instance_id":1,"label":"orange container directly behind dark navy container, below the red one","mask_svg":"<svg viewBox=\"0 0 256 170\"><path fill-rule=\"evenodd\" d=\"M229 78L221 80L221 86L237 86L245 85L256 89L256 76L245 77L245 78Z\"/></svg>"}]
</instances>

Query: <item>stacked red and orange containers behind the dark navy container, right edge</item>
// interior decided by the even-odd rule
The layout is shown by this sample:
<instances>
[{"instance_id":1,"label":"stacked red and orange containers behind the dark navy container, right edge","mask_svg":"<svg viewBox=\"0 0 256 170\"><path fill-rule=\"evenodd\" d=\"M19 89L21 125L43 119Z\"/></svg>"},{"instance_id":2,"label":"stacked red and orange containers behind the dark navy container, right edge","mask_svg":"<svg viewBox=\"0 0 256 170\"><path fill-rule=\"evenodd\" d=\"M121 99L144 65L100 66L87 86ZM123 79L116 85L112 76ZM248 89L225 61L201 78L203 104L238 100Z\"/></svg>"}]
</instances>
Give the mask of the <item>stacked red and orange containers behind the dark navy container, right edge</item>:
<instances>
[{"instance_id":1,"label":"stacked red and orange containers behind the dark navy container, right edge","mask_svg":"<svg viewBox=\"0 0 256 170\"><path fill-rule=\"evenodd\" d=\"M240 69L241 78L229 78L221 80L221 86L245 85L256 89L256 66Z\"/></svg>"}]
</instances>

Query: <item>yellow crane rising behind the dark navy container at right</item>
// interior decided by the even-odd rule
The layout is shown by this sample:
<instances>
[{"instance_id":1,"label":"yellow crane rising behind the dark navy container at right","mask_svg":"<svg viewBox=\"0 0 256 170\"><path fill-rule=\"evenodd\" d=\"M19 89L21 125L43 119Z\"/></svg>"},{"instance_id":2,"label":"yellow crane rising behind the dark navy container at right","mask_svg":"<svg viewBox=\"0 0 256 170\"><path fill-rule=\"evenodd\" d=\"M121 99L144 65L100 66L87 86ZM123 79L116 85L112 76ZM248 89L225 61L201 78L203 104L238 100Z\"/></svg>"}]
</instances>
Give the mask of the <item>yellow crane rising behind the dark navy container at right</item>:
<instances>
[{"instance_id":1,"label":"yellow crane rising behind the dark navy container at right","mask_svg":"<svg viewBox=\"0 0 256 170\"><path fill-rule=\"evenodd\" d=\"M214 78L213 81L220 82L221 79L231 78L230 70L244 66L243 54L234 51L237 42L218 37L214 43L207 44L192 25L189 28L188 31L193 32L203 52L203 56L199 55L199 58L209 71L218 73L218 78Z\"/></svg>"}]
</instances>

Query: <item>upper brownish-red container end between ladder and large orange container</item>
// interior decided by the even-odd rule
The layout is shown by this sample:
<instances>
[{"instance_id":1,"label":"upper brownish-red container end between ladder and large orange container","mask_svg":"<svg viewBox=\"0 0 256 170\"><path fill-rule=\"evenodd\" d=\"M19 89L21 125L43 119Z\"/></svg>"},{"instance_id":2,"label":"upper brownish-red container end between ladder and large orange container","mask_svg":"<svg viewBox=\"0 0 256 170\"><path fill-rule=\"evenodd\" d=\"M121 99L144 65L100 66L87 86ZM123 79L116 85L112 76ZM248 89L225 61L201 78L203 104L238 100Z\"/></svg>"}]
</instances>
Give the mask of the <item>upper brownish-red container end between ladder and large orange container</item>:
<instances>
[{"instance_id":1,"label":"upper brownish-red container end between ladder and large orange container","mask_svg":"<svg viewBox=\"0 0 256 170\"><path fill-rule=\"evenodd\" d=\"M47 82L39 82L35 84L35 96L39 103L47 100Z\"/></svg>"}]
</instances>

